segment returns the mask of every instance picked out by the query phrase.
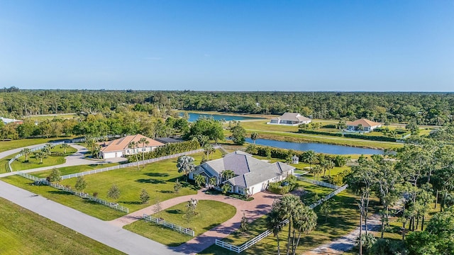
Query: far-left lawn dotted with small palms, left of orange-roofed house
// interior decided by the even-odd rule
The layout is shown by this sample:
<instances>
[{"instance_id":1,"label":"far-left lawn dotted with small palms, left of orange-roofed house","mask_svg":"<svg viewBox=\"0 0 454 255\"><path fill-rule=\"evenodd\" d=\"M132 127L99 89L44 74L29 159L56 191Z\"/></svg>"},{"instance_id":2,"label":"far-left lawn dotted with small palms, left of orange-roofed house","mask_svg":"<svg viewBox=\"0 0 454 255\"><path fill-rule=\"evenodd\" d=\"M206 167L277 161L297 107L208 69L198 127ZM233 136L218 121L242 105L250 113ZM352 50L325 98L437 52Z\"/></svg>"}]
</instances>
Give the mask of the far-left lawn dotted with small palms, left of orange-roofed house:
<instances>
[{"instance_id":1,"label":"far-left lawn dotted with small palms, left of orange-roofed house","mask_svg":"<svg viewBox=\"0 0 454 255\"><path fill-rule=\"evenodd\" d=\"M50 156L47 156L46 158L43 159L43 164L40 164L40 159L36 159L33 153L28 155L28 162L25 162L26 157L22 156L16 159L13 164L11 164L11 167L13 168L13 171L21 171L21 170L27 170L27 169L35 169L38 167L44 167L44 166L56 166L59 164L63 164L66 162L65 157L67 157L70 154L73 154L74 152L77 152L77 149L74 149L73 147L69 147L66 149L66 154L63 154L64 149L60 147L60 145L57 145L52 148ZM61 154L61 156L55 156L54 154Z\"/></svg>"}]
</instances>

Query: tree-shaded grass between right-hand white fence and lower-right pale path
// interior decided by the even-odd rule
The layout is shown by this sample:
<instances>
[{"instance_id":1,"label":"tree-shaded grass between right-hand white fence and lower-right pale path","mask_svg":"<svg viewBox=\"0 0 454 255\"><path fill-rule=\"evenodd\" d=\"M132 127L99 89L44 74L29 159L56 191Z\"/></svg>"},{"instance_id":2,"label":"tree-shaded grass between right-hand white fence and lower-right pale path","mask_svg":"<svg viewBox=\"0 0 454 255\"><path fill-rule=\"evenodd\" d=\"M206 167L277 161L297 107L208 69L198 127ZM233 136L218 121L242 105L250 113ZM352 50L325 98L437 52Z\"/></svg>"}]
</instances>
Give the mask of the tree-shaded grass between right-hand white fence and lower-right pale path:
<instances>
[{"instance_id":1,"label":"tree-shaded grass between right-hand white fence and lower-right pale path","mask_svg":"<svg viewBox=\"0 0 454 255\"><path fill-rule=\"evenodd\" d=\"M310 183L301 183L305 191L317 193L319 197L331 193L332 190L319 186L311 185ZM357 204L355 196L348 191L343 191L337 196L331 198L333 200L333 212L328 216L325 222L325 217L320 215L318 208L316 212L319 215L316 229L307 235L302 235L299 249L297 254L301 254L304 251L308 251L320 244L330 242L336 237L341 237L344 234L355 229L359 224L359 214L357 212ZM266 216L265 216L266 217ZM255 237L256 235L264 232L265 228L265 217L262 217L250 225L250 231L248 234L231 234L225 239L226 242L233 243L236 245L243 244L248 239ZM279 234L281 252L282 247L287 245L287 227L284 227L283 231ZM241 254L276 254L277 253L277 242L276 238L272 235L263 239L262 241L255 244L250 249L243 251ZM227 249L223 249L219 246L212 245L208 249L202 251L200 254L233 254Z\"/></svg>"}]
</instances>

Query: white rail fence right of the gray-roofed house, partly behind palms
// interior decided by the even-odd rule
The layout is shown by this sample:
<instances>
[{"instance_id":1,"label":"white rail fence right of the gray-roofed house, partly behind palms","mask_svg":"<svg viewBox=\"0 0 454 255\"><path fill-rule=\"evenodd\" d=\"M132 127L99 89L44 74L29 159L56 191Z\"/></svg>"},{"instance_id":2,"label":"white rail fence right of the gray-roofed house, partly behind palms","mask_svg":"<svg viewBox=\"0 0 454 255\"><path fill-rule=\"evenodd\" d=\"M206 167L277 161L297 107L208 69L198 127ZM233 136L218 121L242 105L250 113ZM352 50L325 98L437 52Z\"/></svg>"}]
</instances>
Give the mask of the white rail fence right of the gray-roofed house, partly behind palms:
<instances>
[{"instance_id":1,"label":"white rail fence right of the gray-roofed house, partly behind palms","mask_svg":"<svg viewBox=\"0 0 454 255\"><path fill-rule=\"evenodd\" d=\"M314 180L311 180L311 179L307 179L307 180L314 181ZM301 181L304 181L304 180L301 180ZM321 186L325 186L325 184L330 184L330 183L324 183L323 181L316 181L316 183L314 182L314 184L317 184L317 183L320 183L319 185L321 185ZM333 186L336 186L336 185L333 185ZM338 186L336 186L336 187L338 187ZM338 187L338 189L336 189L336 191L333 191L333 192L329 193L328 196L326 196L324 198L321 198L316 203L313 203L313 204L309 205L309 208L311 208L311 209L316 208L317 206L321 205L321 203L323 203L326 200L332 198L333 196L336 196L338 193L341 193L342 191L344 191L345 188L347 188L347 187L348 187L348 184L345 184L342 187ZM289 220L284 220L282 222L282 225L287 225L288 223L289 223ZM248 249L250 246L253 246L254 244L257 244L258 242L260 242L260 240L262 240L265 237L269 236L271 233L272 233L272 231L270 229L268 229L265 232L262 232L262 234L259 234L257 237L254 237L253 239L248 240L244 244L241 244L240 246L229 244L228 242L223 242L223 241L218 240L218 239L216 239L215 244L217 246L221 246L221 247L223 247L225 249L228 249L230 251L235 251L236 253L240 253L241 251L244 251L245 249Z\"/></svg>"}]
</instances>

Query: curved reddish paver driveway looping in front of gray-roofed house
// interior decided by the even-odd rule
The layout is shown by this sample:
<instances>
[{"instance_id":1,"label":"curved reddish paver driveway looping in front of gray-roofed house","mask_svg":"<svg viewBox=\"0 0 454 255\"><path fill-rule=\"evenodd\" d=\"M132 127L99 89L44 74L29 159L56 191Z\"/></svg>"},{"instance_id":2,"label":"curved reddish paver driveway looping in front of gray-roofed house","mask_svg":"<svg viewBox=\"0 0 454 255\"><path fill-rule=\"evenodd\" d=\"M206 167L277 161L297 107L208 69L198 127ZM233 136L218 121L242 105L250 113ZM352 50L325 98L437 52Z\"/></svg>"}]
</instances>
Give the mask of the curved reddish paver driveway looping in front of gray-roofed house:
<instances>
[{"instance_id":1,"label":"curved reddish paver driveway looping in front of gray-roofed house","mask_svg":"<svg viewBox=\"0 0 454 255\"><path fill-rule=\"evenodd\" d=\"M199 191L196 195L181 196L178 198L165 200L161 202L162 210L170 208L179 203L185 203L191 198L198 200L216 200L236 207L236 214L230 220L227 220L221 225L218 225L217 227L204 232L204 234L201 234L198 237L194 237L194 239L189 240L189 242L186 242L185 244L177 247L172 247L170 249L182 252L184 254L196 254L200 251L203 251L204 249L214 244L215 239L222 239L224 237L227 237L233 231L238 229L238 227L240 226L241 217L243 217L243 212L249 220L255 220L269 212L271 210L272 202L279 197L280 196L276 194L260 192L253 196L254 200L244 201L227 196L208 195L203 191ZM142 210L132 212L129 215L119 217L116 220L111 220L110 223L112 225L122 227L124 225L128 225L132 222L142 219L143 214L152 215L154 213L154 205L150 205L148 208L143 208Z\"/></svg>"}]
</instances>

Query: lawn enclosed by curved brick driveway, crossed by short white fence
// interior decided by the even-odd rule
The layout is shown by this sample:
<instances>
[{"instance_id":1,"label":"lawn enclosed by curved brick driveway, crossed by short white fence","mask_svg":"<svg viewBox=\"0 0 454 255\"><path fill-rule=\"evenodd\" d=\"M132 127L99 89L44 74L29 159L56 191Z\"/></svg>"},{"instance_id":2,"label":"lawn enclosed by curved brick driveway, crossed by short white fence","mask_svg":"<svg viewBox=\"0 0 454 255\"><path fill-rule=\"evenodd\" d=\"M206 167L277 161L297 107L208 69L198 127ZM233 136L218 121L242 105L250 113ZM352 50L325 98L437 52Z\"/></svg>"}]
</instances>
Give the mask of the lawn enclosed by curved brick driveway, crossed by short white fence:
<instances>
[{"instance_id":1,"label":"lawn enclosed by curved brick driveway, crossed by short white fence","mask_svg":"<svg viewBox=\"0 0 454 255\"><path fill-rule=\"evenodd\" d=\"M236 208L232 205L212 200L199 200L196 209L197 215L195 215L188 224L187 220L184 219L186 205L187 203L181 203L172 206L171 208L160 212L159 217L182 227L189 226L194 229L195 235L198 236L199 234L220 225L222 222L229 220L236 214ZM158 217L157 214L153 216ZM193 238L187 234L181 234L167 227L145 222L145 220L133 222L130 225L126 225L124 228L168 246L179 246Z\"/></svg>"}]
</instances>

